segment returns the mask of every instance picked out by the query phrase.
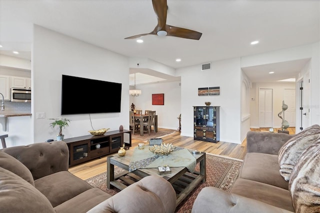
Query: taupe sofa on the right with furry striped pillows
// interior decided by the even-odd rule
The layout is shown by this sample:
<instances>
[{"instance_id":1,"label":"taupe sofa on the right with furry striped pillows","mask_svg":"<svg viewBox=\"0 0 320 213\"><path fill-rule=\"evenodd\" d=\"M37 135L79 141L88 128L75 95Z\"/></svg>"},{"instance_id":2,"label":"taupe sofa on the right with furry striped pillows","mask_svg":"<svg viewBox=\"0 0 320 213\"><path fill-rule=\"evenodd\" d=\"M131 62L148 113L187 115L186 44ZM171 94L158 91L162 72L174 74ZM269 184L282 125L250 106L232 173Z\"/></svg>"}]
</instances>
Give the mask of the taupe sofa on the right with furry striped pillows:
<instances>
[{"instance_id":1,"label":"taupe sofa on the right with furry striped pillows","mask_svg":"<svg viewBox=\"0 0 320 213\"><path fill-rule=\"evenodd\" d=\"M246 139L247 153L231 191L203 188L193 213L320 212L319 125L296 135L249 131Z\"/></svg>"}]
</instances>

